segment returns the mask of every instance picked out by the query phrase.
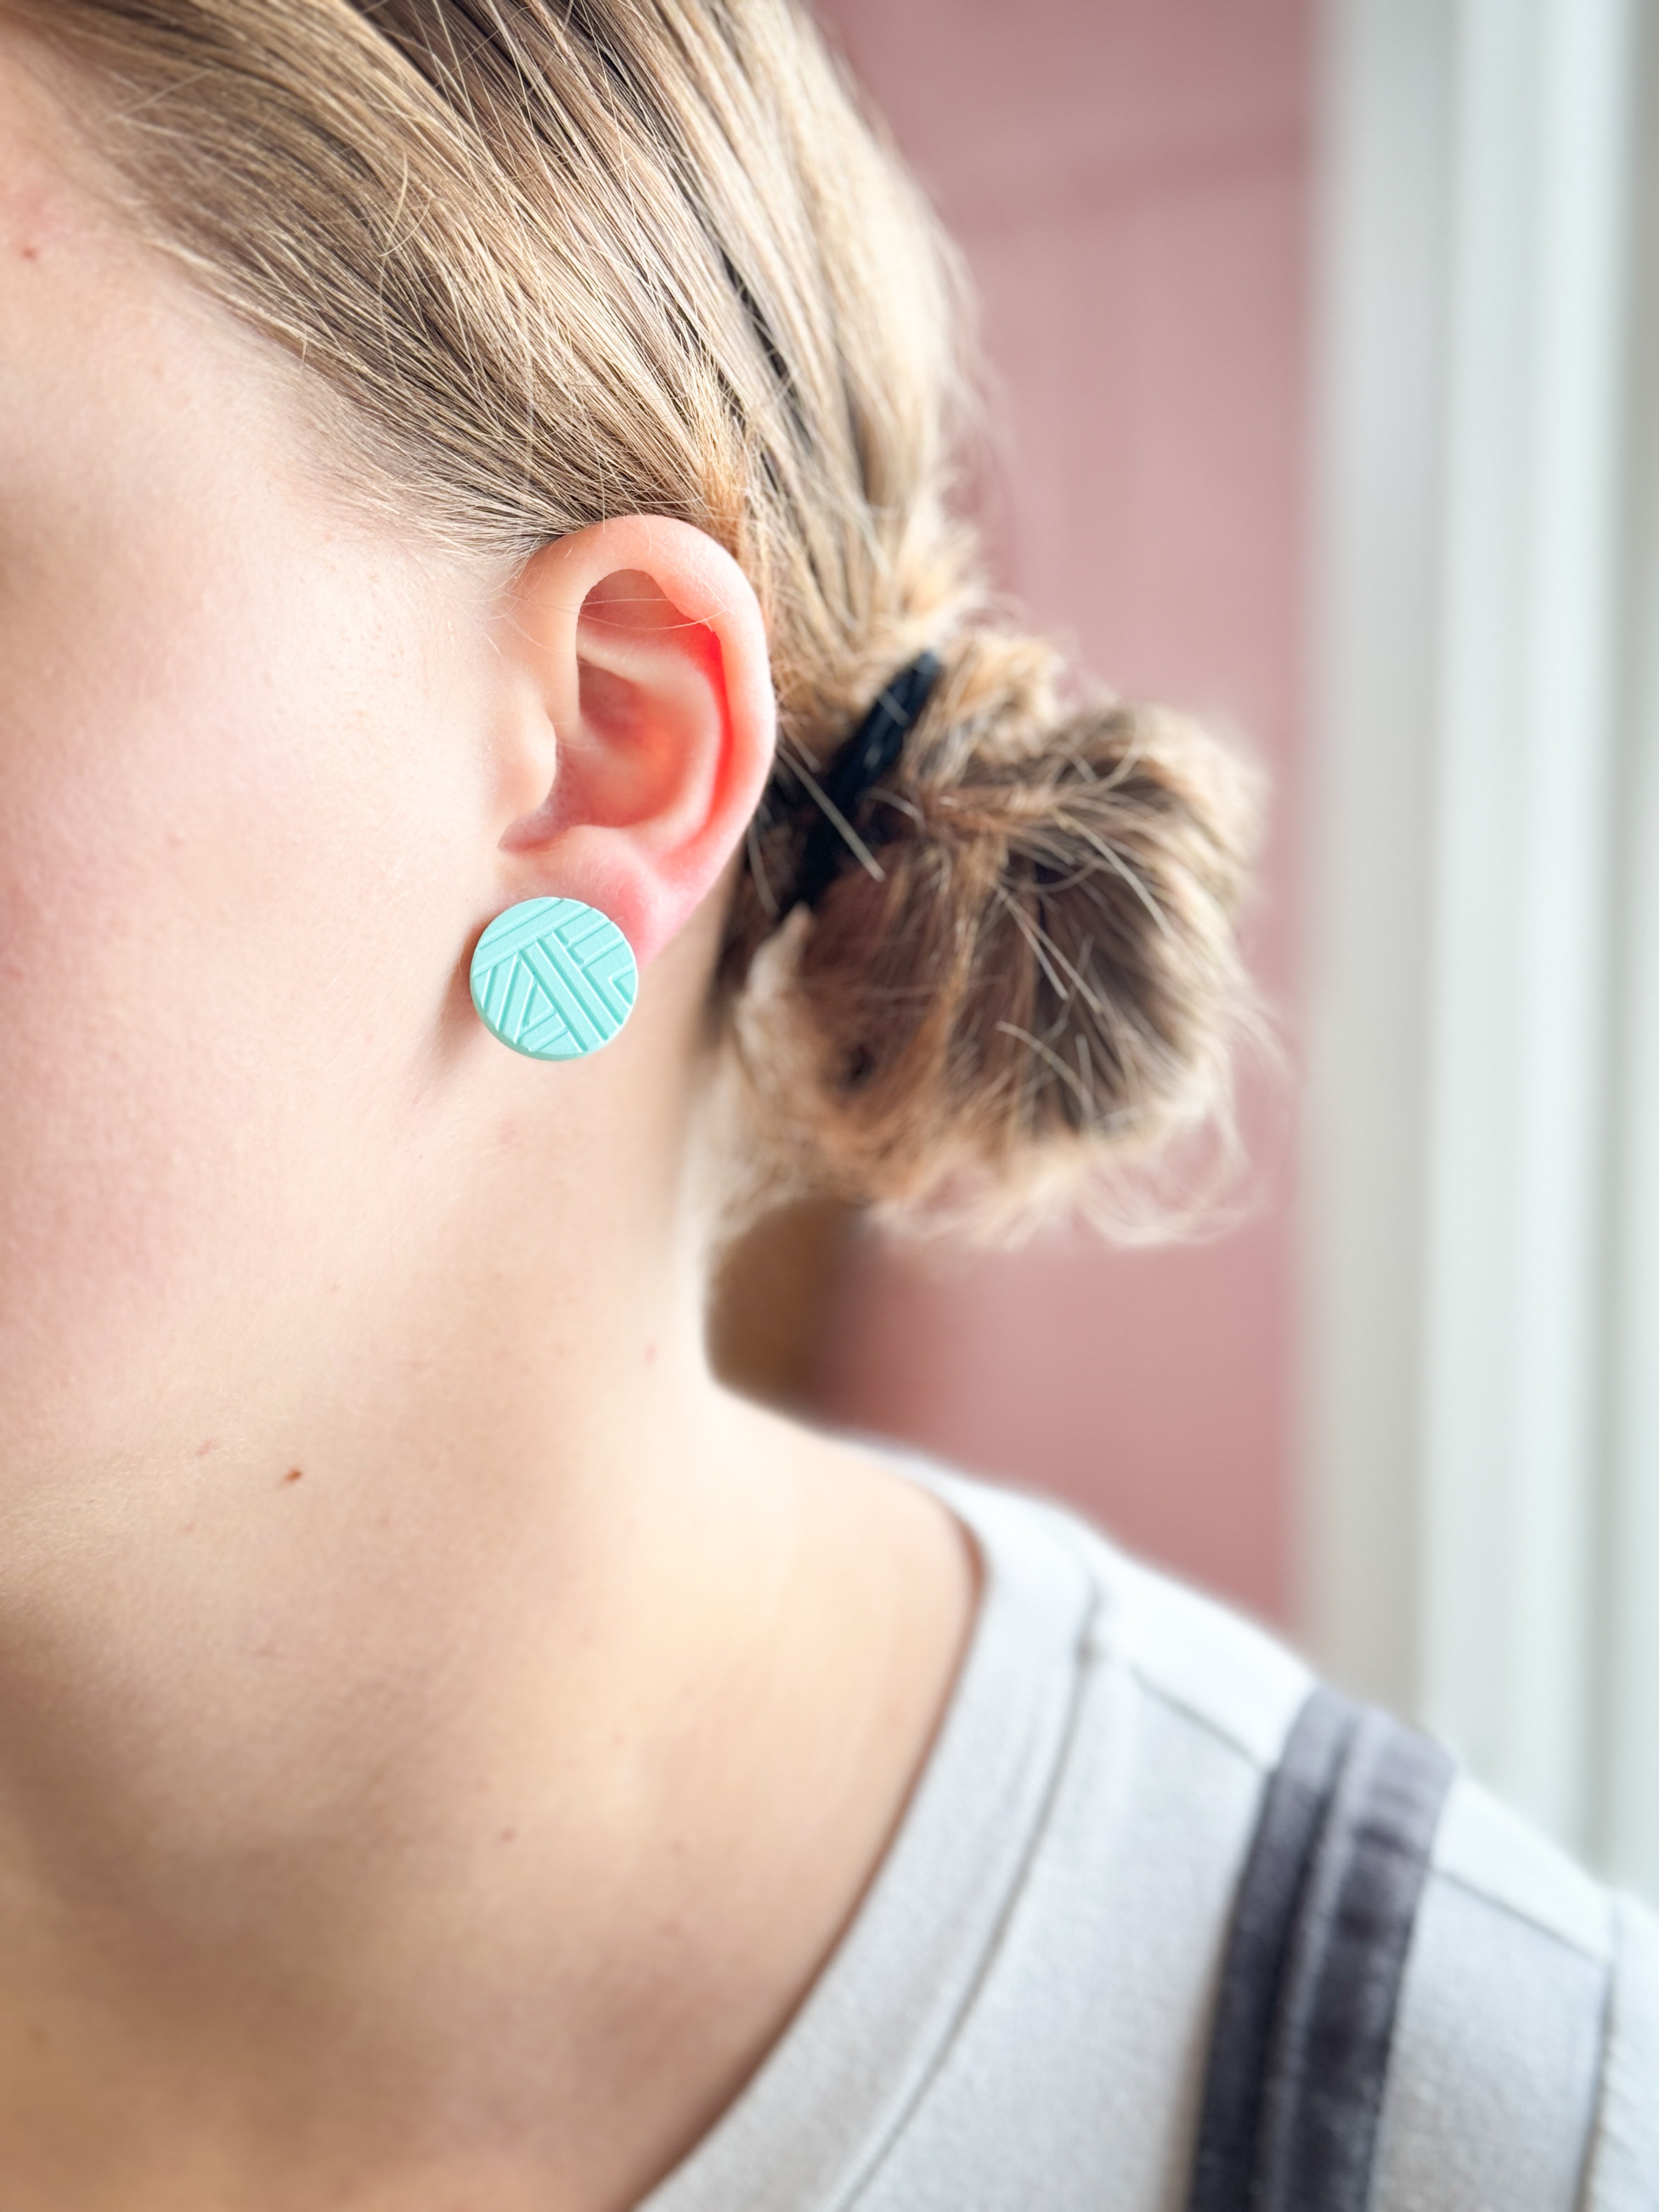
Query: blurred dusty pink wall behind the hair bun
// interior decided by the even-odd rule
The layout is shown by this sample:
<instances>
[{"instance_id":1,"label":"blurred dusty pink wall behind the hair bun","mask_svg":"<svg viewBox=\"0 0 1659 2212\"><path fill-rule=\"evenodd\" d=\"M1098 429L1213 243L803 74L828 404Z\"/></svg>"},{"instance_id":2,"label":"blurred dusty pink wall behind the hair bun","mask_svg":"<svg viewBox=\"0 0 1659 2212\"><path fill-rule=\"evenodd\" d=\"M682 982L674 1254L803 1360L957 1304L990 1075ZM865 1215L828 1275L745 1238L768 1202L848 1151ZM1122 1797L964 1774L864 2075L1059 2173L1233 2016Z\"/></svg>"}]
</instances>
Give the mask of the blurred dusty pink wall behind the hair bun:
<instances>
[{"instance_id":1,"label":"blurred dusty pink wall behind the hair bun","mask_svg":"<svg viewBox=\"0 0 1659 2212\"><path fill-rule=\"evenodd\" d=\"M1004 580L1274 774L1256 973L1294 1037L1310 0L823 0L969 250ZM1290 1588L1287 1104L1230 1239L940 1276L860 1245L832 1418L1084 1502L1265 1615ZM1276 1128L1276 1135L1274 1135Z\"/></svg>"}]
</instances>

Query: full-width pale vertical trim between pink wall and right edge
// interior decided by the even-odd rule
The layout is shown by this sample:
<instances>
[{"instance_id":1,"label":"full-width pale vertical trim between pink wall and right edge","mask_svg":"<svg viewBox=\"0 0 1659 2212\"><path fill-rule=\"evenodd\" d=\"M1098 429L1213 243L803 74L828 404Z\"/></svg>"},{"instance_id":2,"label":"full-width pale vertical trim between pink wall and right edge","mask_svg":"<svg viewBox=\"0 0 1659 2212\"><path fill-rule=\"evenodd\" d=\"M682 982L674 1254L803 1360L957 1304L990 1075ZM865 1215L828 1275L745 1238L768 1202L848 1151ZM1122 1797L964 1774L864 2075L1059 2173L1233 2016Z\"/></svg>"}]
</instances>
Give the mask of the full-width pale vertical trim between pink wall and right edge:
<instances>
[{"instance_id":1,"label":"full-width pale vertical trim between pink wall and right edge","mask_svg":"<svg viewBox=\"0 0 1659 2212\"><path fill-rule=\"evenodd\" d=\"M1312 1624L1338 1674L1573 1843L1606 1796L1639 4L1327 7ZM1376 345L1402 363L1394 389Z\"/></svg>"}]
</instances>

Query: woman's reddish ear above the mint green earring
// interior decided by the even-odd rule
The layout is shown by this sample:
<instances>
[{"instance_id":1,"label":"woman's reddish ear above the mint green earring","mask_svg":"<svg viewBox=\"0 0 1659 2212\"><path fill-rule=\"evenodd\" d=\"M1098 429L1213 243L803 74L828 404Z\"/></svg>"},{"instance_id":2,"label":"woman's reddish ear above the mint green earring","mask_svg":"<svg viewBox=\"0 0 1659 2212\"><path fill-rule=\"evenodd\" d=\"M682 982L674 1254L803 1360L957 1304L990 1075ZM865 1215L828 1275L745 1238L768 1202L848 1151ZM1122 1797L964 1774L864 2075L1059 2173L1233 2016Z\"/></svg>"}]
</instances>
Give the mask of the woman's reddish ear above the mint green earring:
<instances>
[{"instance_id":1,"label":"woman's reddish ear above the mint green earring","mask_svg":"<svg viewBox=\"0 0 1659 2212\"><path fill-rule=\"evenodd\" d=\"M531 555L511 686L502 905L599 907L644 964L714 889L772 770L754 588L688 522L622 515Z\"/></svg>"}]
</instances>

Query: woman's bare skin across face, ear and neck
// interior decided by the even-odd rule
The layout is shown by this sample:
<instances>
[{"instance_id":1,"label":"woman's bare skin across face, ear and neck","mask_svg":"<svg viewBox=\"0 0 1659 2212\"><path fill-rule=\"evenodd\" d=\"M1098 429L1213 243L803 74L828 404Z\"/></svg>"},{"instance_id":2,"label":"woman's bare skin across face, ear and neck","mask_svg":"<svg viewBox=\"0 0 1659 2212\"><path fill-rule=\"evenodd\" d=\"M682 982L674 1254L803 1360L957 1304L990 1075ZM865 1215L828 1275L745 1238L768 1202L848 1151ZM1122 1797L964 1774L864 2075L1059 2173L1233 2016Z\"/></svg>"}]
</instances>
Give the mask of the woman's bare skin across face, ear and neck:
<instances>
[{"instance_id":1,"label":"woman's bare skin across face, ear and neck","mask_svg":"<svg viewBox=\"0 0 1659 2212\"><path fill-rule=\"evenodd\" d=\"M0 2194L602 2212L847 1924L973 1608L703 1363L697 1031L772 712L624 518L354 518L305 374L0 40ZM639 1006L495 1044L602 905Z\"/></svg>"}]
</instances>

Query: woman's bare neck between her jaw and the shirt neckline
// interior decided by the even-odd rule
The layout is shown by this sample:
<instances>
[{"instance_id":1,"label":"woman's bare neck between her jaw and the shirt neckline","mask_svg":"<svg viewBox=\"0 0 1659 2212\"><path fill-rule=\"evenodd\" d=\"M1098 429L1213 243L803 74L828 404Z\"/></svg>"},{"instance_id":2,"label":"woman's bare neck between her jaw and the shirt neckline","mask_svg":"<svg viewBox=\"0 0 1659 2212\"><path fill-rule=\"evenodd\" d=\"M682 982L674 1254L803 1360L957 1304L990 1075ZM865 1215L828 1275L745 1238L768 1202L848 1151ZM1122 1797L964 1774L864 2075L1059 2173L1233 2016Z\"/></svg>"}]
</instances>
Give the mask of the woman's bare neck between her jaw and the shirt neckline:
<instances>
[{"instance_id":1,"label":"woman's bare neck between her jaw and the shirt neckline","mask_svg":"<svg viewBox=\"0 0 1659 2212\"><path fill-rule=\"evenodd\" d=\"M628 2203L891 1827L960 1551L712 1385L690 1270L617 1241L575 1327L511 1248L7 1513L0 2146L73 2170L42 2205Z\"/></svg>"}]
</instances>

